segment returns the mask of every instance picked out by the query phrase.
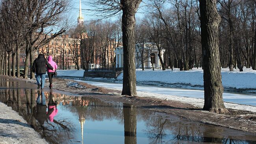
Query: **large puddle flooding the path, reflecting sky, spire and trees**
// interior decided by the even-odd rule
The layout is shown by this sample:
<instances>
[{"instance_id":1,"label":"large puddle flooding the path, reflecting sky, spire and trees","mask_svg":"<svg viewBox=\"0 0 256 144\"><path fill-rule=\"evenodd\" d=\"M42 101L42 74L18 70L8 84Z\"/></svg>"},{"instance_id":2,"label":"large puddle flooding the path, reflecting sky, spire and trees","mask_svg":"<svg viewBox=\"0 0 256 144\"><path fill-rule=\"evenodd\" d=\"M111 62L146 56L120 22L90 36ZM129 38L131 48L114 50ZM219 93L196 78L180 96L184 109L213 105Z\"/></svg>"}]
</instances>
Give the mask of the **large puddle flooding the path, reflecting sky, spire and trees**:
<instances>
[{"instance_id":1,"label":"large puddle flooding the path, reflecting sky, spire and trees","mask_svg":"<svg viewBox=\"0 0 256 144\"><path fill-rule=\"evenodd\" d=\"M256 135L188 121L117 102L103 102L0 77L0 102L11 106L49 143L256 144ZM46 107L47 106L47 107Z\"/></svg>"}]
</instances>

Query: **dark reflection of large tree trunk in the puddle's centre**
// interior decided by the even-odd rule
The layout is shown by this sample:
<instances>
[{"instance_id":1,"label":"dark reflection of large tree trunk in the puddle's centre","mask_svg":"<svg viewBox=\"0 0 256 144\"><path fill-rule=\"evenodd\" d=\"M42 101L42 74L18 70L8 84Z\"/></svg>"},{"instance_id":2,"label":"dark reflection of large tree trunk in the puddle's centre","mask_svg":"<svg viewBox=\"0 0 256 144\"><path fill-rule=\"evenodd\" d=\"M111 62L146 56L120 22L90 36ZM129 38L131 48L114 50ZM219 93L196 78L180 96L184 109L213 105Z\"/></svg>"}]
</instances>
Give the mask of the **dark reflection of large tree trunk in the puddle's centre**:
<instances>
[{"instance_id":1,"label":"dark reflection of large tree trunk in the puddle's centre","mask_svg":"<svg viewBox=\"0 0 256 144\"><path fill-rule=\"evenodd\" d=\"M137 144L137 109L131 104L123 104L124 144Z\"/></svg>"}]
</instances>

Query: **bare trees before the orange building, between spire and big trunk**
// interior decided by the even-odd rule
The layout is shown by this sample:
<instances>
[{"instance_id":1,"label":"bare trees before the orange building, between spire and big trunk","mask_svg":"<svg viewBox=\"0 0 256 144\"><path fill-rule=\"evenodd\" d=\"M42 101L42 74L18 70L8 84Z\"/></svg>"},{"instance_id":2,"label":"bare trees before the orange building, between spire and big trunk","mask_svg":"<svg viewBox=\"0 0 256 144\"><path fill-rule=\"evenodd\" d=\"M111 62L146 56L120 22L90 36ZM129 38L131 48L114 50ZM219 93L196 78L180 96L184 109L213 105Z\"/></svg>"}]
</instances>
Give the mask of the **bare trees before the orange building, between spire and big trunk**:
<instances>
[{"instance_id":1,"label":"bare trees before the orange building, between spire and big trunk","mask_svg":"<svg viewBox=\"0 0 256 144\"><path fill-rule=\"evenodd\" d=\"M73 44L79 44L71 50L73 62L83 69L88 69L90 63L96 63L101 68L113 68L114 50L121 41L120 29L118 21L109 20L90 21L71 29Z\"/></svg>"}]
</instances>

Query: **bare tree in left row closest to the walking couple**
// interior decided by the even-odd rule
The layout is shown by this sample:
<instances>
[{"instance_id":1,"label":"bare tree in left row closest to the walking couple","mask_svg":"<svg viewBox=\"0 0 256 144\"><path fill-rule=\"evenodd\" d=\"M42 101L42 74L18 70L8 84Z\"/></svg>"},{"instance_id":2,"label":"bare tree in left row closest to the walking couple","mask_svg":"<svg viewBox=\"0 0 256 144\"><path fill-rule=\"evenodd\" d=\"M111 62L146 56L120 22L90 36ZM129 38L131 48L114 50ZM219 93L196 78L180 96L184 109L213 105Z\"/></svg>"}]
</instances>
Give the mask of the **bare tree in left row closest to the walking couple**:
<instances>
[{"instance_id":1,"label":"bare tree in left row closest to the walking couple","mask_svg":"<svg viewBox=\"0 0 256 144\"><path fill-rule=\"evenodd\" d=\"M24 0L21 4L23 13L20 21L23 21L28 29L24 33L26 40L25 78L27 78L28 62L30 59L30 65L33 64L35 50L66 31L67 23L63 22L62 14L67 11L68 3L66 0ZM56 32L48 37L47 35L54 31L54 26L57 26ZM34 78L32 67L30 68L30 78Z\"/></svg>"}]
</instances>

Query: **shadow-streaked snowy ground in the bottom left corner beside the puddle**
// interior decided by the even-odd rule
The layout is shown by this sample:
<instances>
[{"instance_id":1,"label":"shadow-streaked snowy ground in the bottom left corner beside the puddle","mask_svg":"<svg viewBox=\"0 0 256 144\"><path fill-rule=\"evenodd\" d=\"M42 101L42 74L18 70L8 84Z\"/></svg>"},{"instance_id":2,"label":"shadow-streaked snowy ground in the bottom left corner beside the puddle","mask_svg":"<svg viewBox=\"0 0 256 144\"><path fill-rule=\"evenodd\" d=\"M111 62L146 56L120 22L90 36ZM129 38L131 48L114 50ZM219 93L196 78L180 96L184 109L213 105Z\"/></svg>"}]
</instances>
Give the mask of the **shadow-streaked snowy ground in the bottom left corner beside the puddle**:
<instances>
[{"instance_id":1,"label":"shadow-streaked snowy ground in the bottom left corner beside the puddle","mask_svg":"<svg viewBox=\"0 0 256 144\"><path fill-rule=\"evenodd\" d=\"M48 144L11 107L0 103L0 110L0 144Z\"/></svg>"}]
</instances>

